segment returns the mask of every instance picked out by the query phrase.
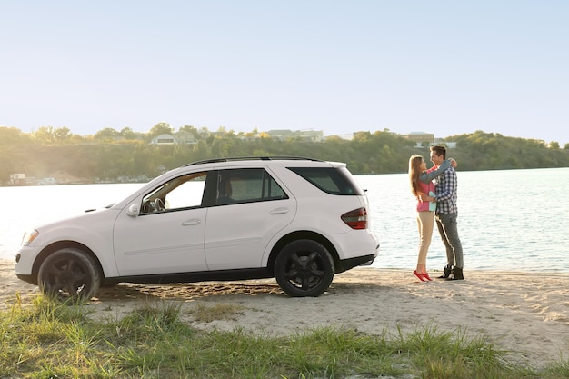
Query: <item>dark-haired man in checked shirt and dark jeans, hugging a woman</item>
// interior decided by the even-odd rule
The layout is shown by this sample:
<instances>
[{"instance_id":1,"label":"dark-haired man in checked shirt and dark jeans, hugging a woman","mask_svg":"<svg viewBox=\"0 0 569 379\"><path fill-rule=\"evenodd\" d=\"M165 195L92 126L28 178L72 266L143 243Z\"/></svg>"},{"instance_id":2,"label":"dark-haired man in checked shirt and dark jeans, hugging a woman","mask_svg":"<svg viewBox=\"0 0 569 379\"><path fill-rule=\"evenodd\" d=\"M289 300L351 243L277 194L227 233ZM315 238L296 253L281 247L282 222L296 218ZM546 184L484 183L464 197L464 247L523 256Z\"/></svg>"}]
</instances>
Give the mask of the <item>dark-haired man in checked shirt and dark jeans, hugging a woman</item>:
<instances>
[{"instance_id":1,"label":"dark-haired man in checked shirt and dark jeans, hugging a woman","mask_svg":"<svg viewBox=\"0 0 569 379\"><path fill-rule=\"evenodd\" d=\"M446 148L440 145L431 146L431 162L434 165L441 165L446 159ZM458 185L454 167L447 168L443 175L434 179L436 194L436 226L443 239L446 248L447 264L444 267L444 274L440 278L446 280L464 280L463 275L463 245L458 237L458 227L456 218L458 208L456 207L456 188Z\"/></svg>"}]
</instances>

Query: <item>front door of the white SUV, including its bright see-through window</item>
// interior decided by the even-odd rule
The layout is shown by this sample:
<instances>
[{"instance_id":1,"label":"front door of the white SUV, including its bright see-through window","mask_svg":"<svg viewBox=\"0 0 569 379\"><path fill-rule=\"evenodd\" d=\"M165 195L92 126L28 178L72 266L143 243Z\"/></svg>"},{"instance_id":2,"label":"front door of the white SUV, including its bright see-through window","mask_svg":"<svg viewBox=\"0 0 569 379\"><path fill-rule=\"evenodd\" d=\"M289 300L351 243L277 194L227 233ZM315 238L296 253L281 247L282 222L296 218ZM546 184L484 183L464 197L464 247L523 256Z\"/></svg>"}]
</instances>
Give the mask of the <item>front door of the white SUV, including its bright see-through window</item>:
<instances>
[{"instance_id":1,"label":"front door of the white SUV, including its bright see-through window","mask_svg":"<svg viewBox=\"0 0 569 379\"><path fill-rule=\"evenodd\" d=\"M141 199L140 212L116 220L115 260L121 276L205 271L202 206L207 173L177 177Z\"/></svg>"}]
</instances>

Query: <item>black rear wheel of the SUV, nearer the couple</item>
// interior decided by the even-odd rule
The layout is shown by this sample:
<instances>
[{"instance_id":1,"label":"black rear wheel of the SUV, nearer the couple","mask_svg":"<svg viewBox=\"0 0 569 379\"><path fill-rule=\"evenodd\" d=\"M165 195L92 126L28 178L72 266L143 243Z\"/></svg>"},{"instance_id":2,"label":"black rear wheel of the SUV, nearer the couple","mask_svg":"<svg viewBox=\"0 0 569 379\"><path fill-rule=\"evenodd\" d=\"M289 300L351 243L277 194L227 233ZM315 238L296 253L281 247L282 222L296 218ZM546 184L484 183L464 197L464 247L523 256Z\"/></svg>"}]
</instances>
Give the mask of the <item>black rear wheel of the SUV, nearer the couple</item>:
<instances>
[{"instance_id":1,"label":"black rear wheel of the SUV, nearer the couple","mask_svg":"<svg viewBox=\"0 0 569 379\"><path fill-rule=\"evenodd\" d=\"M320 296L334 279L334 261L328 250L312 240L284 246L275 261L275 278L292 297Z\"/></svg>"}]
</instances>

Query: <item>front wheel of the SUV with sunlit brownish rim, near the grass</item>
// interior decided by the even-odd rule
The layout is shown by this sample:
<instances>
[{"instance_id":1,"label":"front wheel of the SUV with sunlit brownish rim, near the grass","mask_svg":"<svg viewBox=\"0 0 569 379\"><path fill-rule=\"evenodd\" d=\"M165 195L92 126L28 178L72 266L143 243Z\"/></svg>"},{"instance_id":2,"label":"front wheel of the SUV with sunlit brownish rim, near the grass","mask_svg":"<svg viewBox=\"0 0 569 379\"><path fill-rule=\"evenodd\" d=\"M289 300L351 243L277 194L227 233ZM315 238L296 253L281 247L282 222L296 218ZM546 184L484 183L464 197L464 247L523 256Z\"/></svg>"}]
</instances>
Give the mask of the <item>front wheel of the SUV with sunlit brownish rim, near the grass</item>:
<instances>
[{"instance_id":1,"label":"front wheel of the SUV with sunlit brownish rim, near the grass","mask_svg":"<svg viewBox=\"0 0 569 379\"><path fill-rule=\"evenodd\" d=\"M38 273L40 290L48 296L89 300L99 290L101 271L84 251L64 248L49 254Z\"/></svg>"}]
</instances>

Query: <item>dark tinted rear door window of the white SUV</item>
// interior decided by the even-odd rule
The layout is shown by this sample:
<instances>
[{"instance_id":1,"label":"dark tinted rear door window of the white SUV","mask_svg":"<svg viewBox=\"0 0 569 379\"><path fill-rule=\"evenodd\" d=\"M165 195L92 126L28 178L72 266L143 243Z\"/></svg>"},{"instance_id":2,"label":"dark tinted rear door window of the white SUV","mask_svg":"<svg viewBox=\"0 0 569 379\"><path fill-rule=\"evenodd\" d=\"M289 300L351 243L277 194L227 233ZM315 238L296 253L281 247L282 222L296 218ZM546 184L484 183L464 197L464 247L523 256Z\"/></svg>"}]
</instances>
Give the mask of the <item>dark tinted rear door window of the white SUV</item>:
<instances>
[{"instance_id":1,"label":"dark tinted rear door window of the white SUV","mask_svg":"<svg viewBox=\"0 0 569 379\"><path fill-rule=\"evenodd\" d=\"M283 188L263 168L219 171L217 194L217 205L288 198Z\"/></svg>"}]
</instances>

